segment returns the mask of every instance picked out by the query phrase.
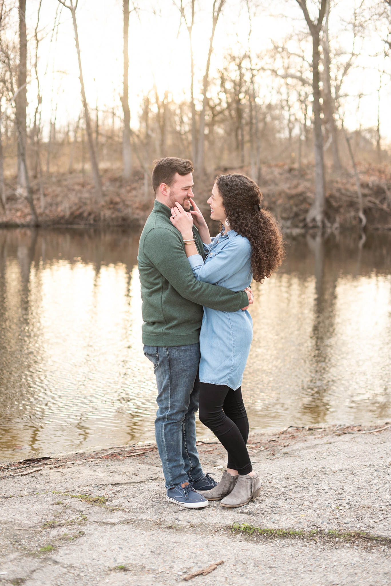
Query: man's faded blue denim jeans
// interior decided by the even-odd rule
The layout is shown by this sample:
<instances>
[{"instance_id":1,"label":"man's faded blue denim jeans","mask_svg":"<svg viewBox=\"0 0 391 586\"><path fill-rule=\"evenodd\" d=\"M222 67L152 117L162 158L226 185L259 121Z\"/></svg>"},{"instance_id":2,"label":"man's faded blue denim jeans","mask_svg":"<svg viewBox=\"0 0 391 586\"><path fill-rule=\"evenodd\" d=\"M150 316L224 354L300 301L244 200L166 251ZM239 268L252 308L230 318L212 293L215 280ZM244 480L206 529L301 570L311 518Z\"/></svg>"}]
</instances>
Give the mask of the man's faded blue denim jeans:
<instances>
[{"instance_id":1,"label":"man's faded blue denim jeans","mask_svg":"<svg viewBox=\"0 0 391 586\"><path fill-rule=\"evenodd\" d=\"M199 344L144 346L154 364L158 387L155 437L166 488L197 482L205 476L196 448Z\"/></svg>"}]
</instances>

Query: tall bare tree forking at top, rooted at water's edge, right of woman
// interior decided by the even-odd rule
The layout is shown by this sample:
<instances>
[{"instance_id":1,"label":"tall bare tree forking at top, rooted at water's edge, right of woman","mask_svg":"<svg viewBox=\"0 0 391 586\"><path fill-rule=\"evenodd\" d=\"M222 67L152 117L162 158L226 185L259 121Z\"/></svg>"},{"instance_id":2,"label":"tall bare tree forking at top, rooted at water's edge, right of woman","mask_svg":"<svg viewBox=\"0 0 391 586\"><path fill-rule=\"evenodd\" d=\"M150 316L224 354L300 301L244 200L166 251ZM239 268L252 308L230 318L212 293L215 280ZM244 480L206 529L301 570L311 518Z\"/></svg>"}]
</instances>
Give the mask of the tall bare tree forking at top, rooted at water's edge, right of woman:
<instances>
[{"instance_id":1,"label":"tall bare tree forking at top, rooted at water's edge, right of woman","mask_svg":"<svg viewBox=\"0 0 391 586\"><path fill-rule=\"evenodd\" d=\"M322 120L321 120L321 103L319 90L319 35L322 29L327 0L320 0L319 13L317 21L312 21L308 13L307 0L296 0L302 9L305 22L312 36L312 108L314 111L314 137L315 137L315 199L307 213L307 224L310 226L315 223L321 227L324 222L325 207L325 170L323 159L323 137L322 137Z\"/></svg>"}]
</instances>

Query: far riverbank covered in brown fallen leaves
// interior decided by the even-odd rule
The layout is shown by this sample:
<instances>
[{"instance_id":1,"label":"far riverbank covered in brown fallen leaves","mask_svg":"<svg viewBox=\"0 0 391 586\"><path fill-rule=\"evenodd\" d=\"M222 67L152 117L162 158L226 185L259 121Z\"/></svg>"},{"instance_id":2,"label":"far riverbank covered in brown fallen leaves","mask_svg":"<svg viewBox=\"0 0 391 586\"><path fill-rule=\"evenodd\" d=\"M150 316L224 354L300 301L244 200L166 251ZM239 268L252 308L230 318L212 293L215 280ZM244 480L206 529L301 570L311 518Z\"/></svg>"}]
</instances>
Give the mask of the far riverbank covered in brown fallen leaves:
<instances>
[{"instance_id":1,"label":"far riverbank covered in brown fallen leaves","mask_svg":"<svg viewBox=\"0 0 391 586\"><path fill-rule=\"evenodd\" d=\"M369 229L391 229L391 172L389 165L359 165L363 209ZM195 176L196 198L203 210L218 172L249 173L249 169L220 169L202 180ZM147 178L148 179L148 178ZM154 194L144 174L134 171L125 182L121 172L104 172L104 200L94 202L93 182L81 173L57 174L32 182L33 199L40 226L127 226L140 227L152 209ZM314 166L298 169L284 163L264 165L260 182L264 205L277 217L284 230L304 230L305 217L314 199ZM16 181L7 183L6 210L0 206L0 226L28 226L29 205L16 195ZM359 226L355 177L344 171L327 170L326 222L334 229Z\"/></svg>"}]
</instances>

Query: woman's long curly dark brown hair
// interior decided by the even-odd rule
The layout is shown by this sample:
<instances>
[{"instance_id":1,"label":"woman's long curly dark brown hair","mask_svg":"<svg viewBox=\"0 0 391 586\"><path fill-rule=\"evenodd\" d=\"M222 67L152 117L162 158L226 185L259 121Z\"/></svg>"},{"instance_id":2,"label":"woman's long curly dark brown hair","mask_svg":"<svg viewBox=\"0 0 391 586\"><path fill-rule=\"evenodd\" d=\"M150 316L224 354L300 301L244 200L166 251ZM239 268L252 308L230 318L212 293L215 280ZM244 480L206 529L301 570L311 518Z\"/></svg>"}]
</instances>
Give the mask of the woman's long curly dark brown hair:
<instances>
[{"instance_id":1,"label":"woman's long curly dark brown hair","mask_svg":"<svg viewBox=\"0 0 391 586\"><path fill-rule=\"evenodd\" d=\"M263 282L284 258L283 236L270 212L261 209L259 186L246 175L219 175L217 189L223 198L230 229L246 236L251 244L251 270Z\"/></svg>"}]
</instances>

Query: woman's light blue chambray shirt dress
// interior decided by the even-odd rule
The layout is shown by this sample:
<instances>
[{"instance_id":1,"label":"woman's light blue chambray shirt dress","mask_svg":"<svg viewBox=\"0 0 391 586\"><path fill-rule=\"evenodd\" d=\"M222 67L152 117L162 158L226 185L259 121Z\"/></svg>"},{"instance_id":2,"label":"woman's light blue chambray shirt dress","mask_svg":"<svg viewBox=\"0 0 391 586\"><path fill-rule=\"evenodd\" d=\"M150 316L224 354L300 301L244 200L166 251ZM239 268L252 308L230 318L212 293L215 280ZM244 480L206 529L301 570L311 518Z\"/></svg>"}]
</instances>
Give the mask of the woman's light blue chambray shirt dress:
<instances>
[{"instance_id":1,"label":"woman's light blue chambray shirt dress","mask_svg":"<svg viewBox=\"0 0 391 586\"><path fill-rule=\"evenodd\" d=\"M188 258L199 281L242 291L251 283L251 245L234 230L217 234L204 244L208 256ZM217 311L203 308L200 332L199 379L203 383L226 384L236 390L242 384L244 367L253 338L253 322L248 311Z\"/></svg>"}]
</instances>

